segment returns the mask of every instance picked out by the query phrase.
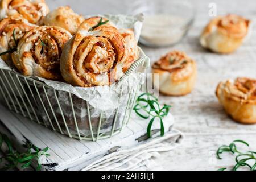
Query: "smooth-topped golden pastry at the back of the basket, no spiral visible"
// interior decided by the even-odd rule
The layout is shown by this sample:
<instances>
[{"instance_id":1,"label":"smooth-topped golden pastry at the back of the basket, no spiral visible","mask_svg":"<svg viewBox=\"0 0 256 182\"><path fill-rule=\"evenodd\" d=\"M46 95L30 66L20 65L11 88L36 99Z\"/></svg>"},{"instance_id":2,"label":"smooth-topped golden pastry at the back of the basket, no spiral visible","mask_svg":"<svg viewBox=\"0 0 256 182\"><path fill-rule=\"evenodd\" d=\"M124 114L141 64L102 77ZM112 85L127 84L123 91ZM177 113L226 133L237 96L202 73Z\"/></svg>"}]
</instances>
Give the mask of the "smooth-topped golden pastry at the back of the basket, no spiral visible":
<instances>
[{"instance_id":1,"label":"smooth-topped golden pastry at the back of the basket, no spiral visible","mask_svg":"<svg viewBox=\"0 0 256 182\"><path fill-rule=\"evenodd\" d=\"M65 30L71 32L72 35L76 34L80 24L84 21L84 18L69 7L59 7L51 11L43 19L43 24L46 26L59 26L65 28Z\"/></svg>"}]
</instances>

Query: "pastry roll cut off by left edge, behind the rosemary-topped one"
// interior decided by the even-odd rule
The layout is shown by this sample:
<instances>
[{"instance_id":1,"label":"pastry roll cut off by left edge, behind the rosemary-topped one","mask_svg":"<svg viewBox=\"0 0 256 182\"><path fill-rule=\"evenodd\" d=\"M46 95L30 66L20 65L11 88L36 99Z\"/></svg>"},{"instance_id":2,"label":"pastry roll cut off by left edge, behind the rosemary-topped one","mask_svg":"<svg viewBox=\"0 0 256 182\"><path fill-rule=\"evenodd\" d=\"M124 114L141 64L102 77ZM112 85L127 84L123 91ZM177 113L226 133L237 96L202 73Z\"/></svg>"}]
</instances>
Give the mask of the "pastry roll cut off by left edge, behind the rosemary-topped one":
<instances>
[{"instance_id":1,"label":"pastry roll cut off by left edge, behind the rosemary-topped one","mask_svg":"<svg viewBox=\"0 0 256 182\"><path fill-rule=\"evenodd\" d=\"M11 61L11 53L16 50L19 40L34 27L36 25L28 23L22 16L9 16L0 21L0 55L4 61Z\"/></svg>"}]
</instances>

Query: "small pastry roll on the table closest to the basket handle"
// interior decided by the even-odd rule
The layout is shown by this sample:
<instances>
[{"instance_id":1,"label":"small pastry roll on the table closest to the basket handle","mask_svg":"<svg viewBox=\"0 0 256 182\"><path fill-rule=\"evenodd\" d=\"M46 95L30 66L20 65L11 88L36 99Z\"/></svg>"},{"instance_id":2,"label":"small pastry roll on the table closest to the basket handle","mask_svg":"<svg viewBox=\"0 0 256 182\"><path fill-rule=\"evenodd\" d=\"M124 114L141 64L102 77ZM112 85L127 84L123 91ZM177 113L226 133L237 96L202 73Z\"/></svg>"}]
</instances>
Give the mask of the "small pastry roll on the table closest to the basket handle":
<instances>
[{"instance_id":1,"label":"small pastry roll on the table closest to the basket handle","mask_svg":"<svg viewBox=\"0 0 256 182\"><path fill-rule=\"evenodd\" d=\"M156 88L168 96L183 96L192 91L195 85L197 69L196 62L184 52L172 51L152 65Z\"/></svg>"}]
</instances>

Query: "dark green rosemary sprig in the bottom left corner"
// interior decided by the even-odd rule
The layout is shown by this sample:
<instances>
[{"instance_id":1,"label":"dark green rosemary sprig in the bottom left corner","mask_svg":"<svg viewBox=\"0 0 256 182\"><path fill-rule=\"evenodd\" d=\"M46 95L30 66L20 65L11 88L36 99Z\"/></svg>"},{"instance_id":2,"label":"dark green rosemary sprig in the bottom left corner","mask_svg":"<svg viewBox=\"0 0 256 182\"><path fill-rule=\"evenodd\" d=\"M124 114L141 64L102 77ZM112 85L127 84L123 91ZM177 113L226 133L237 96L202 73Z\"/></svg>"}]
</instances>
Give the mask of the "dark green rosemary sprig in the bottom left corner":
<instances>
[{"instance_id":1,"label":"dark green rosemary sprig in the bottom left corner","mask_svg":"<svg viewBox=\"0 0 256 182\"><path fill-rule=\"evenodd\" d=\"M38 147L34 146L31 143L27 144L26 152L19 153L18 151L14 150L13 146L11 145L10 139L5 134L0 133L0 150L3 143L7 145L8 151L7 154L5 154L5 156L0 158L0 163L2 163L4 159L8 162L8 164L5 164L5 167L1 168L0 171L9 170L18 167L19 165L21 165L21 168L31 167L32 160L38 160L39 157L42 155L49 156L49 154L47 154L48 147L44 148L43 150L40 150ZM36 170L40 169L41 165L38 164Z\"/></svg>"}]
</instances>

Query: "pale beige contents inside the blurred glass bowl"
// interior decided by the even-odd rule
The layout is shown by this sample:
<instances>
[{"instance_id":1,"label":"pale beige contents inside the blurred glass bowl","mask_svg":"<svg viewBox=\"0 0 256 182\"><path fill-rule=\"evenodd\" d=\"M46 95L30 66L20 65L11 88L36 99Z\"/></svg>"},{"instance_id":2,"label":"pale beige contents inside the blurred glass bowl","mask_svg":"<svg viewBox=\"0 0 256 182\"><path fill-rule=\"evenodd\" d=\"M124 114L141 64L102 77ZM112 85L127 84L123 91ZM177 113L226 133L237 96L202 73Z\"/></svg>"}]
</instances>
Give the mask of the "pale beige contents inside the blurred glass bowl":
<instances>
[{"instance_id":1,"label":"pale beige contents inside the blurred glass bowl","mask_svg":"<svg viewBox=\"0 0 256 182\"><path fill-rule=\"evenodd\" d=\"M150 46L168 46L184 36L188 19L174 15L145 15L141 42Z\"/></svg>"}]
</instances>

